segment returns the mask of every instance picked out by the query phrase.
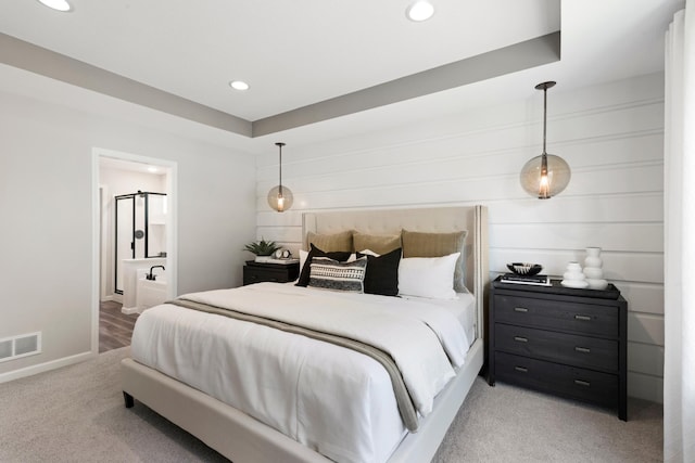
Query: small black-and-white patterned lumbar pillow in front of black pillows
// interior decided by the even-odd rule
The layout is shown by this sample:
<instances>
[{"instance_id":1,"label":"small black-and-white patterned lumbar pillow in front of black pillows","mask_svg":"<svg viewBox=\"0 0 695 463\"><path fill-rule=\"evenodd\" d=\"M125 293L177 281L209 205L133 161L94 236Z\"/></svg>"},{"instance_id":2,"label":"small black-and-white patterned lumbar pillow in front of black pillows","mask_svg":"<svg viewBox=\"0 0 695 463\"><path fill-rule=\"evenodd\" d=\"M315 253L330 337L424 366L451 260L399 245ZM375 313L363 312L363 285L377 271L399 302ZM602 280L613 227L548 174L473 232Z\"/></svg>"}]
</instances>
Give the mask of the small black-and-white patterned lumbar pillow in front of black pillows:
<instances>
[{"instance_id":1,"label":"small black-and-white patterned lumbar pillow in front of black pillows","mask_svg":"<svg viewBox=\"0 0 695 463\"><path fill-rule=\"evenodd\" d=\"M339 262L329 257L314 257L311 263L308 285L321 290L364 293L367 258Z\"/></svg>"}]
</instances>

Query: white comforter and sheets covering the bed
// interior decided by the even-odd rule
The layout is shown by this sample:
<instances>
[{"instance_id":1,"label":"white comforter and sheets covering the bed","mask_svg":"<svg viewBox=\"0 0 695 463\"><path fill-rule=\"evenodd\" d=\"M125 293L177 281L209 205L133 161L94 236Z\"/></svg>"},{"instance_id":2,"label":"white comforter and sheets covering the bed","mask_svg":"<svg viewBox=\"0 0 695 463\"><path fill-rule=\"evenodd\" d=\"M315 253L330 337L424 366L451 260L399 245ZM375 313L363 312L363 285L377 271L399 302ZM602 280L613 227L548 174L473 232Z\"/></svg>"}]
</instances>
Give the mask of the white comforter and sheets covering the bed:
<instances>
[{"instance_id":1,"label":"white comforter and sheets covering the bed","mask_svg":"<svg viewBox=\"0 0 695 463\"><path fill-rule=\"evenodd\" d=\"M462 295L457 301L438 301L434 307L429 299L261 283L188 296L219 306L230 295L274 317L295 317L301 312L304 316L300 317L313 318L318 310L340 313L337 308L343 307L361 313L358 319L363 321L370 320L367 331L386 339L388 348L392 336L387 335L386 327L371 326L376 319L388 316L386 319L392 323L392 314L403 313L408 314L406 319L428 319L456 366L473 339L467 334L472 317L468 313L472 312L469 295ZM319 306L311 306L309 299L318 300ZM365 300L367 307L357 305ZM308 309L303 311L302 307ZM378 316L369 316L375 310ZM348 334L357 326L348 323L348 319L343 321ZM331 344L163 305L140 316L131 349L137 361L203 390L339 462L386 461L405 434L386 370L364 355ZM407 363L413 353L406 352L401 362ZM447 368L453 371L451 365ZM439 370L434 369L434 373L441 375ZM443 384L435 383L448 376L444 373L425 386L425 393L418 396L422 414L428 412L428 388L433 384L441 388ZM438 391L432 390L432 397Z\"/></svg>"}]
</instances>

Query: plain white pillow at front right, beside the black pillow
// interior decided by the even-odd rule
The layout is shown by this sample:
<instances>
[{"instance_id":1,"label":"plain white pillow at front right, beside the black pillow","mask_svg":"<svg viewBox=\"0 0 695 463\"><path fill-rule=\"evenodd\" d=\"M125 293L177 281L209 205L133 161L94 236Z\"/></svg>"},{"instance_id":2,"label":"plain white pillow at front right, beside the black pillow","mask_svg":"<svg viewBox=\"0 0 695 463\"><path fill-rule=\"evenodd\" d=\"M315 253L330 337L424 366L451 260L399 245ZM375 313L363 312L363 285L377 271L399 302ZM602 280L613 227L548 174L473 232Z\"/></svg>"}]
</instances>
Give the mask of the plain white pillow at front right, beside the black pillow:
<instances>
[{"instance_id":1,"label":"plain white pillow at front right, beside the black pillow","mask_svg":"<svg viewBox=\"0 0 695 463\"><path fill-rule=\"evenodd\" d=\"M408 257L399 266L399 294L455 299L454 268L460 253L444 257Z\"/></svg>"}]
</instances>

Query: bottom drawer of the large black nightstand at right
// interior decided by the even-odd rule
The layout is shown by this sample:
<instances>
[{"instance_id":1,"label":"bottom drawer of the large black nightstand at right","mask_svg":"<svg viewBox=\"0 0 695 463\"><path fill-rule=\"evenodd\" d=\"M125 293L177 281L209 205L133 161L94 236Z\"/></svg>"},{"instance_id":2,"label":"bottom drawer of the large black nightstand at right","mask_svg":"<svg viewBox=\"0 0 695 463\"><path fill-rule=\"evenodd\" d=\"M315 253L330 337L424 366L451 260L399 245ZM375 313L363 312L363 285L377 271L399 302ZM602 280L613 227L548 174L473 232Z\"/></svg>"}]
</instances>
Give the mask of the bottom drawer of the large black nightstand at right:
<instances>
[{"instance_id":1,"label":"bottom drawer of the large black nightstand at right","mask_svg":"<svg viewBox=\"0 0 695 463\"><path fill-rule=\"evenodd\" d=\"M500 381L606 407L618 403L618 376L614 374L504 352L496 352L495 365Z\"/></svg>"}]
</instances>

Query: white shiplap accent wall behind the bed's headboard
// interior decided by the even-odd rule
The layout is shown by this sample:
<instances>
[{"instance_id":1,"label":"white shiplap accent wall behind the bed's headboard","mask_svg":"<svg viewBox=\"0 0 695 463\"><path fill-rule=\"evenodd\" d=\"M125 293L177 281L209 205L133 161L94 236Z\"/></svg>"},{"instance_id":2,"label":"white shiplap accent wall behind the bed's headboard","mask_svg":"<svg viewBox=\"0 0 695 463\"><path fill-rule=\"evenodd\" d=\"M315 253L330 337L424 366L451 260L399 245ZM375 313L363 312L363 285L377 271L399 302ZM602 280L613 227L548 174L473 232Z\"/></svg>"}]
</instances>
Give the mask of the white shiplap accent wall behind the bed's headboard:
<instances>
[{"instance_id":1,"label":"white shiplap accent wall behind the bed's headboard","mask_svg":"<svg viewBox=\"0 0 695 463\"><path fill-rule=\"evenodd\" d=\"M519 171L541 153L542 93L503 106L283 150L291 210L266 203L277 153L257 160L257 236L293 252L306 210L484 204L491 276L509 261L561 275L603 248L606 278L629 303L629 395L662 402L664 76L548 92L548 152L572 179L549 201L527 196ZM454 104L455 105L455 104ZM407 103L404 104L407 110Z\"/></svg>"}]
</instances>

